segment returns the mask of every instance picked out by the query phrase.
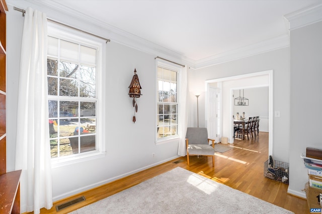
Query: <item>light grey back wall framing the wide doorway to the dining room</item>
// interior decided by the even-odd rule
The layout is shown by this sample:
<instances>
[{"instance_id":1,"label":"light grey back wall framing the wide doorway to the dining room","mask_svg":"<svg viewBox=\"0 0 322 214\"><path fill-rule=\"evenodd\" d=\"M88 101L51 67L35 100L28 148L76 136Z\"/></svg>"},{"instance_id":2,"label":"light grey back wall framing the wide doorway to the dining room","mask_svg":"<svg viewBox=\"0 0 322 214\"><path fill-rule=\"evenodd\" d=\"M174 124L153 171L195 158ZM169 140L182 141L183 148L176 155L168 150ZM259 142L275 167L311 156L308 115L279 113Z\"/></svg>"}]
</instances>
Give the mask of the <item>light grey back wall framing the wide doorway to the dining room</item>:
<instances>
[{"instance_id":1,"label":"light grey back wall framing the wide doorway to the dining room","mask_svg":"<svg viewBox=\"0 0 322 214\"><path fill-rule=\"evenodd\" d=\"M273 151L276 160L288 162L289 127L290 127L290 71L289 48L251 56L227 63L222 63L198 70L189 70L189 85L191 91L205 91L205 81L245 75L250 73L273 70L273 111L279 110L280 117L273 118ZM238 87L246 87L244 83ZM199 99L204 99L202 95ZM223 98L224 99L224 98ZM229 99L229 98L228 98ZM224 103L224 100L223 100ZM199 102L199 110L204 109L204 102ZM192 105L192 104L191 104ZM193 105L192 105L193 106ZM224 111L224 110L223 110ZM199 112L200 118L204 112ZM231 114L222 115L222 119L230 120ZM189 125L196 126L189 118ZM205 127L205 120L199 121L199 126ZM225 127L225 124L223 124ZM223 132L224 134L224 132ZM259 163L262 164L262 163Z\"/></svg>"}]
</instances>

